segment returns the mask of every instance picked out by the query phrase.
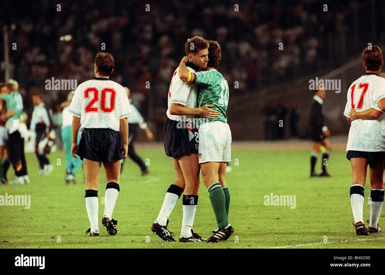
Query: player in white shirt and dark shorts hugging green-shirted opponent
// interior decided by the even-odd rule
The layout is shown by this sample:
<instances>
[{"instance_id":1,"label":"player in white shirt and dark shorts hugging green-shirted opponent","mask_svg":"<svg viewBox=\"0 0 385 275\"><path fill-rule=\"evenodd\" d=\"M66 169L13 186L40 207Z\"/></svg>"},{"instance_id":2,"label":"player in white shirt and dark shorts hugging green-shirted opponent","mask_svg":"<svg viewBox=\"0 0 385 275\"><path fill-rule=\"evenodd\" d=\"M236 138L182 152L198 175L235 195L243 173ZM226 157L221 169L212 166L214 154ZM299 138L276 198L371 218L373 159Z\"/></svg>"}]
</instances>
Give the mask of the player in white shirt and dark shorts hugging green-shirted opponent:
<instances>
[{"instance_id":1,"label":"player in white shirt and dark shorts hugging green-shirted opponent","mask_svg":"<svg viewBox=\"0 0 385 275\"><path fill-rule=\"evenodd\" d=\"M189 71L196 73L199 69L207 67L208 47L208 41L202 37L195 36L187 39L184 51L189 60L186 64ZM164 241L175 241L167 229L168 217L184 191L179 241L198 242L205 239L194 233L192 229L201 182L198 163L198 129L191 122L198 115L204 118L216 118L219 112L209 108L214 105L203 105L197 108L196 85L181 81L178 69L179 67L172 76L168 91L167 119L163 127L164 150L167 156L172 157L176 180L167 189L161 211L152 224L151 231Z\"/></svg>"}]
</instances>

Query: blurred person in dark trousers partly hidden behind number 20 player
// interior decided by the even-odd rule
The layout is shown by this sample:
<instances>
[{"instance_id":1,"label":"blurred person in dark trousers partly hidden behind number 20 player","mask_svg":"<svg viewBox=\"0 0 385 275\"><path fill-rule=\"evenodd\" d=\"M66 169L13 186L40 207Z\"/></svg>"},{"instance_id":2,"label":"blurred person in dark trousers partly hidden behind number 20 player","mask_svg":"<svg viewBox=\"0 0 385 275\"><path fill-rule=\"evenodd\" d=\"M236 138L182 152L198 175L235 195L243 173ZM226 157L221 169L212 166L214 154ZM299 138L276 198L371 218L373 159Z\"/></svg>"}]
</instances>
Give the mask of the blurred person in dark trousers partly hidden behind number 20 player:
<instances>
[{"instance_id":1,"label":"blurred person in dark trousers partly hidden behind number 20 player","mask_svg":"<svg viewBox=\"0 0 385 275\"><path fill-rule=\"evenodd\" d=\"M153 140L154 135L152 134L150 128L148 127L146 121L144 120L143 116L139 113L138 109L134 106L134 104L131 103L131 92L130 89L127 87L124 87L126 89L127 97L129 98L130 106L131 106L131 116L127 118L128 120L128 155L130 159L134 160L137 165L141 168L142 175L148 174L148 169L146 164L144 164L143 160L139 155L136 154L134 149L134 141L136 138L136 129L139 125L139 128L144 130L144 133L146 134L146 138L148 140ZM123 170L123 164L124 159L121 160L121 172Z\"/></svg>"}]
</instances>

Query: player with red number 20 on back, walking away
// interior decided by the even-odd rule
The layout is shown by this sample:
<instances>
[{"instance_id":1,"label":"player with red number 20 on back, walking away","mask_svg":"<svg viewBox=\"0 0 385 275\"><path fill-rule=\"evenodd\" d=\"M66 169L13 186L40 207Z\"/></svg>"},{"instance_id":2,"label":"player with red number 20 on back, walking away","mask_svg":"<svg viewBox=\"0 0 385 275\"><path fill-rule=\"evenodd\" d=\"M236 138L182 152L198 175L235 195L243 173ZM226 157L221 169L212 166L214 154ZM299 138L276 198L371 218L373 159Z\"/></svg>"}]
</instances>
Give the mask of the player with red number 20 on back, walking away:
<instances>
[{"instance_id":1,"label":"player with red number 20 on back, walking away","mask_svg":"<svg viewBox=\"0 0 385 275\"><path fill-rule=\"evenodd\" d=\"M131 109L124 88L109 79L113 70L114 57L99 52L95 57L95 78L77 87L69 108L73 115L71 153L76 158L79 155L84 167L85 206L91 224L87 236L99 236L97 190L102 163L107 178L102 224L109 235L117 233L112 212L120 190L120 160L127 157L127 117ZM79 128L82 135L78 144Z\"/></svg>"}]
</instances>

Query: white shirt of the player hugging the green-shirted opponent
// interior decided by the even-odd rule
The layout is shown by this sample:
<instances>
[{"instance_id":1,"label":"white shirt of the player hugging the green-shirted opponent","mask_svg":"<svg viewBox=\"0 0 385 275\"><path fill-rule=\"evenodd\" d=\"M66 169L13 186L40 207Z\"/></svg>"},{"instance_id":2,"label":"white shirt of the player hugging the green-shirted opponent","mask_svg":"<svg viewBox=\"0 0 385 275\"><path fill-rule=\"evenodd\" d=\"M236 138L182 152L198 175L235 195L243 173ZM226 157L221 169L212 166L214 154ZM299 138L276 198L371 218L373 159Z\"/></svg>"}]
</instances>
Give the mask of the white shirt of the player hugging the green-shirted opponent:
<instances>
[{"instance_id":1,"label":"white shirt of the player hugging the green-shirted opponent","mask_svg":"<svg viewBox=\"0 0 385 275\"><path fill-rule=\"evenodd\" d=\"M194 63L195 64L195 63ZM198 65L197 65L198 66ZM179 115L170 115L170 105L171 103L178 103L184 105L188 108L196 108L197 106L197 88L194 83L187 83L182 81L178 76L178 69L176 68L169 88L168 100L167 100L167 117L171 120L186 120L186 118L193 118L194 116L179 116ZM191 73L196 73L197 71L191 67L187 67Z\"/></svg>"}]
</instances>

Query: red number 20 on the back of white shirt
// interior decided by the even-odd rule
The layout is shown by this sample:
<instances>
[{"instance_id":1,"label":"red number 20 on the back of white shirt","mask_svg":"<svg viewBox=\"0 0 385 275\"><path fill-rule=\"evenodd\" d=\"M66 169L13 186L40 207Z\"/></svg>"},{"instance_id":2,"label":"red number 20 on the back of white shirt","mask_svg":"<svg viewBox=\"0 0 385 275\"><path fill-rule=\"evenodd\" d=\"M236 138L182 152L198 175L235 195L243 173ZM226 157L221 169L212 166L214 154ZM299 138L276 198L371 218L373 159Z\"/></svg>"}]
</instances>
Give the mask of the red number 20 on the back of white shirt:
<instances>
[{"instance_id":1,"label":"red number 20 on the back of white shirt","mask_svg":"<svg viewBox=\"0 0 385 275\"><path fill-rule=\"evenodd\" d=\"M99 113L99 108L94 106L99 101L99 91L95 87L87 88L84 90L84 98L90 98L90 93L93 94L92 100L85 106L86 113ZM110 104L106 107L107 93L110 94ZM111 113L115 110L116 91L112 88L104 88L100 94L100 110L103 113Z\"/></svg>"}]
</instances>

